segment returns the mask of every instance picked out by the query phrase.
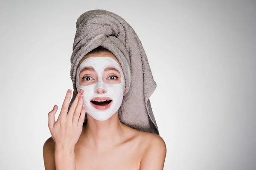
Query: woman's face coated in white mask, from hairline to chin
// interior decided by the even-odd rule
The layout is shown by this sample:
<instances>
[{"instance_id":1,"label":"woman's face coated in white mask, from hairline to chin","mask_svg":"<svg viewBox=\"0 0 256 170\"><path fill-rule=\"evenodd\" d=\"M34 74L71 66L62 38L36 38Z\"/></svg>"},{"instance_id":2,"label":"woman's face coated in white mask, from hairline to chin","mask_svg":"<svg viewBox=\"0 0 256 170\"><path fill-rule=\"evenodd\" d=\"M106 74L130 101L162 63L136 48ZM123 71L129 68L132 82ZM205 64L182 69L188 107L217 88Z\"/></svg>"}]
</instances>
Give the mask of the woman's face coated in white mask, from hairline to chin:
<instances>
[{"instance_id":1,"label":"woman's face coated in white mask, from hairline to chin","mask_svg":"<svg viewBox=\"0 0 256 170\"><path fill-rule=\"evenodd\" d=\"M112 53L88 54L79 62L76 88L84 89L86 112L97 120L107 120L122 104L125 79Z\"/></svg>"}]
</instances>

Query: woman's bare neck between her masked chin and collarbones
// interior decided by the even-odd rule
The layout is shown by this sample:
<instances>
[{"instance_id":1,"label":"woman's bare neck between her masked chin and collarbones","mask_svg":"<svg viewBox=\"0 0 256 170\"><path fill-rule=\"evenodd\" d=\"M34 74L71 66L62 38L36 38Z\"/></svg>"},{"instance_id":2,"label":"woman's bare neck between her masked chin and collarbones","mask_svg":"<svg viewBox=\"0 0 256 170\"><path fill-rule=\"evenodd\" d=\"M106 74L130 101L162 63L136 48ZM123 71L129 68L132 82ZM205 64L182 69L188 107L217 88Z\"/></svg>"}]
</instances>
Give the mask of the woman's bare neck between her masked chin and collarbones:
<instances>
[{"instance_id":1,"label":"woman's bare neck between her masked chin and collarbones","mask_svg":"<svg viewBox=\"0 0 256 170\"><path fill-rule=\"evenodd\" d=\"M87 124L82 133L87 146L107 150L122 142L124 129L117 112L105 121L93 119L87 114Z\"/></svg>"}]
</instances>

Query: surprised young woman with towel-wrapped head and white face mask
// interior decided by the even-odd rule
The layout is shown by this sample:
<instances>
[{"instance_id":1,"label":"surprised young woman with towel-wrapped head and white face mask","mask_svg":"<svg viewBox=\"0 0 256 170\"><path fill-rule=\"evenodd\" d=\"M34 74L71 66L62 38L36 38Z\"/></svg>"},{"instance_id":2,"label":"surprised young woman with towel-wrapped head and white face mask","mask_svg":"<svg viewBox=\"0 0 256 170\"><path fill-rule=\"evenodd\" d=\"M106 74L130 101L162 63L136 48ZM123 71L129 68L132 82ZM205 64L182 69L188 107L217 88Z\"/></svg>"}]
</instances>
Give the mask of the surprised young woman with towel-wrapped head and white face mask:
<instances>
[{"instance_id":1,"label":"surprised young woman with towel-wrapped head and white face mask","mask_svg":"<svg viewBox=\"0 0 256 170\"><path fill-rule=\"evenodd\" d=\"M137 35L106 10L85 12L76 28L74 93L56 122L58 106L48 113L45 169L163 170L166 145L149 102L156 84Z\"/></svg>"}]
</instances>

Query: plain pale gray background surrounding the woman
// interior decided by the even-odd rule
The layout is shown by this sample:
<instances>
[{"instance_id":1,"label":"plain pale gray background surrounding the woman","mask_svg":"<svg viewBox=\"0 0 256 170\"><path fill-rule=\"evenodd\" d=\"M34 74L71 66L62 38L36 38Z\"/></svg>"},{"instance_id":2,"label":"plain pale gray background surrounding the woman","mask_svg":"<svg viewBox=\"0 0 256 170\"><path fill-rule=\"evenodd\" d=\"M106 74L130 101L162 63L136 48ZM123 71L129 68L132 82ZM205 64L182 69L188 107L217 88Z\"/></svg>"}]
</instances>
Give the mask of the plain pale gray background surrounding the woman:
<instances>
[{"instance_id":1,"label":"plain pale gray background surrounding the woman","mask_svg":"<svg viewBox=\"0 0 256 170\"><path fill-rule=\"evenodd\" d=\"M44 170L47 113L73 89L76 19L91 9L143 43L165 170L256 170L255 0L1 1L1 170Z\"/></svg>"}]
</instances>

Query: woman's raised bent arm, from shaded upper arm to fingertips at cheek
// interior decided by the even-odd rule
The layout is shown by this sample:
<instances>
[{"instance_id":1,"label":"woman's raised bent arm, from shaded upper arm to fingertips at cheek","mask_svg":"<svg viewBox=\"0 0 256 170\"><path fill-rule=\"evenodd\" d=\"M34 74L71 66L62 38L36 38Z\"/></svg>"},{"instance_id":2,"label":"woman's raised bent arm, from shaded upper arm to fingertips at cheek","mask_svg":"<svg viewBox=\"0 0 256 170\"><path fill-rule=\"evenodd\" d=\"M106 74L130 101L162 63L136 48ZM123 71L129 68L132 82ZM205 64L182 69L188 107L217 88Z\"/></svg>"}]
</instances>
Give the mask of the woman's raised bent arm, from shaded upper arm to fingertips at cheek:
<instances>
[{"instance_id":1,"label":"woman's raised bent arm, from shaded upper arm to fingertips at cheek","mask_svg":"<svg viewBox=\"0 0 256 170\"><path fill-rule=\"evenodd\" d=\"M72 95L70 89L67 91L57 121L55 121L57 105L48 113L48 127L54 144L52 141L46 141L43 147L46 170L76 170L75 145L81 135L85 117L83 93L83 89L80 89L67 113Z\"/></svg>"}]
</instances>

